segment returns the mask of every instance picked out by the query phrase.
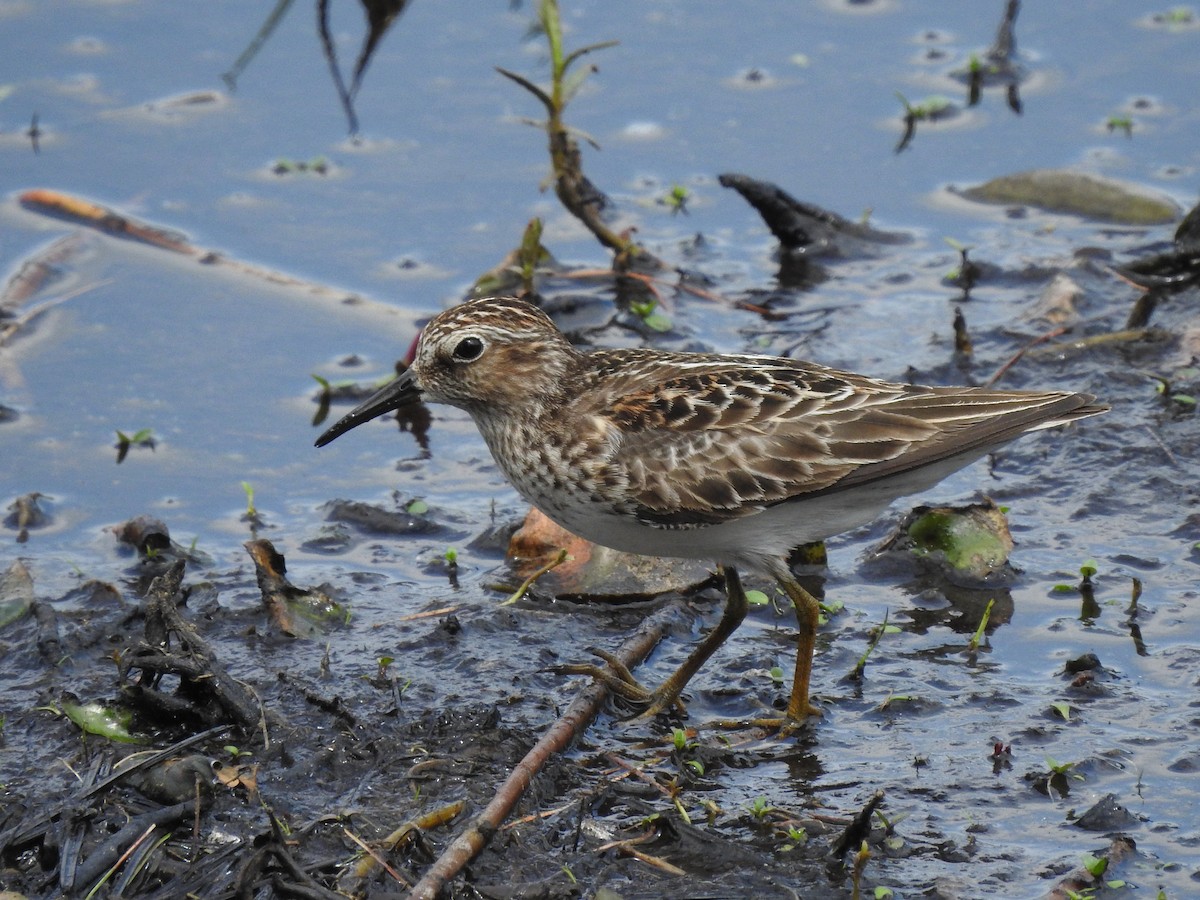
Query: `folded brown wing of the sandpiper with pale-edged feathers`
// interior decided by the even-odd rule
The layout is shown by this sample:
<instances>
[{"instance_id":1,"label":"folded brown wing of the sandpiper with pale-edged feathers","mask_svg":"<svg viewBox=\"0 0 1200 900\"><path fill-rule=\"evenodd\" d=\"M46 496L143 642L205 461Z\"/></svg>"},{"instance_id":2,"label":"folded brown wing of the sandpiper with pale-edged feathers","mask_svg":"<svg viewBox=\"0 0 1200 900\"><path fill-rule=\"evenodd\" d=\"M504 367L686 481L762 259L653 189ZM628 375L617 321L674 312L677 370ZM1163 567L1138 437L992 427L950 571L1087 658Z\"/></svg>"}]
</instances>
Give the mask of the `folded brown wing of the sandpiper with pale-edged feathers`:
<instances>
[{"instance_id":1,"label":"folded brown wing of the sandpiper with pale-edged feathers","mask_svg":"<svg viewBox=\"0 0 1200 900\"><path fill-rule=\"evenodd\" d=\"M610 436L598 474L629 512L666 528L979 455L1103 409L1087 395L911 388L754 356L637 366L626 353L620 384L593 410Z\"/></svg>"}]
</instances>

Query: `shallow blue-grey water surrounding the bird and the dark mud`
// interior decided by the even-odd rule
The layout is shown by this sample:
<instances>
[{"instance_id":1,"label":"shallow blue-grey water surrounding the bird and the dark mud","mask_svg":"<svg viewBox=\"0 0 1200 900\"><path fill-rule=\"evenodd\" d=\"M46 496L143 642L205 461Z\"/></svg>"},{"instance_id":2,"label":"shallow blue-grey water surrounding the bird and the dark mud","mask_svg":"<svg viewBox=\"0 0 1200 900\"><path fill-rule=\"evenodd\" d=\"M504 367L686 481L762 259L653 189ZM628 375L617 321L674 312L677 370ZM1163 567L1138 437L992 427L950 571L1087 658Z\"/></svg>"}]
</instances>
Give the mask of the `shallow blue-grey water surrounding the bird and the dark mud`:
<instances>
[{"instance_id":1,"label":"shallow blue-grey water surrounding the bird and the dark mud","mask_svg":"<svg viewBox=\"0 0 1200 900\"><path fill-rule=\"evenodd\" d=\"M668 292L674 330L658 344L788 353L887 378L982 383L1050 329L1028 317L1060 270L1082 289L1073 336L1123 326L1135 292L1075 252L1092 247L1102 259L1129 259L1169 241L1170 227L1099 226L1036 211L1007 216L943 188L1080 166L1157 188L1187 209L1200 166L1192 97L1200 30L1153 26L1144 20L1152 11L1115 0L1028 5L1016 26L1028 73L1022 114L990 90L952 122L919 125L911 146L893 152L900 138L895 94L961 97L947 72L991 42L1001 10L986 7L565 4L569 46L620 41L595 54L599 72L568 113L604 146L586 149L584 166L611 194L619 221L636 223L641 240L672 265L710 276L722 296L769 296L788 313L768 322L732 302ZM85 235L61 266L62 281L36 298L61 302L0 347L0 403L17 412L0 422L0 499L38 491L50 516L23 545L6 528L10 550L0 564L23 558L37 598L52 602L74 634L116 616L77 590L86 578L114 582L134 601L142 566L110 528L155 515L176 542L194 538L209 557L188 580L214 586L209 612L224 622L212 626L212 640L234 674L259 685L278 671L317 679L325 646L271 636L259 612L241 547L251 536L241 520L246 481L265 521L258 534L287 556L292 580L328 581L353 610L350 624L328 638L335 664L325 690L377 722L384 698L361 677L379 656L394 656L412 679L395 727L416 733L430 710L496 704L505 727L536 734L577 686L539 670L582 659L592 644L614 646L641 613L542 600L498 608L500 595L487 586L502 553L473 541L493 522L518 521L524 506L469 421L436 410L427 458L410 436L379 424L318 452L311 446L310 377L385 376L419 320L494 265L530 216L546 218L544 240L559 259L607 265L553 197L539 193L544 138L520 122L539 110L493 68L544 76L542 44L527 40L530 12L490 4L455 17L414 4L371 64L359 97L362 139L354 143L346 138L311 10L290 12L233 94L220 76L266 10L222 2L205 11L202 18L190 7L138 0L0 0L0 263L16 268L71 230L18 205L19 192L47 187L331 292L269 286ZM360 23L349 7L336 13L344 61L356 52ZM721 50L713 53L714 44ZM192 91L216 94L211 102L163 102ZM42 131L36 155L23 134L35 112ZM1133 137L1105 128L1109 116L1126 113L1134 118ZM317 156L328 157L329 174L271 172L276 160ZM871 210L872 223L913 241L874 258L827 262L826 281L791 288L776 277L775 244L756 214L718 185L722 172L774 181L850 218ZM692 193L686 216L655 203L673 184ZM696 234L704 239L698 251ZM1000 268L970 300L942 281L958 262L944 238ZM608 299L604 288L575 293ZM344 304L343 294L366 302ZM1162 305L1153 324L1168 337L1158 342L1031 353L1004 385L1091 390L1114 412L1068 433L1025 439L920 498L988 493L1010 509L1020 574L996 594L988 644L974 658L964 647L985 598L923 578L906 564L870 559L899 511L830 542L827 595L845 611L822 631L815 690L827 702L824 719L794 751L776 745L746 751L749 762L721 757L683 794L697 822L698 800L716 799L725 812L710 829L749 848L779 895L836 895L846 882L797 881L799 862L780 850L778 835L756 828L745 808L766 797L780 809L818 804L852 815L876 788L887 794L889 818L905 816L896 824L904 845L872 859L868 880L900 896L1043 896L1085 852L1108 844L1104 834L1068 823L1070 811L1106 793L1141 820L1127 829L1139 852L1120 877L1146 896L1159 886L1172 900L1194 889L1200 432L1192 408L1160 397L1147 373L1183 385L1195 380L1188 374L1195 300L1193 290ZM976 341L966 362L953 353L956 305ZM575 316L602 319L599 308ZM610 326L595 340L640 338ZM348 354L361 365L340 365ZM115 431L144 427L157 446L134 448L118 466ZM350 529L335 552L322 552L310 541L323 534L324 504L335 497L386 506L421 498L437 528L407 538ZM460 551L457 587L438 563L449 546ZM1079 595L1054 588L1075 584L1088 559L1099 570L1099 612L1081 616ZM1145 586L1135 619L1141 644L1126 610L1132 577ZM438 617L397 623L446 606L463 628L456 636L443 636ZM654 655L647 682L668 673L700 625L715 620L715 602L701 599L696 610L700 617L682 622ZM884 610L901 631L881 642L863 684L842 682ZM745 714L749 703L776 698L766 672L791 665L790 616L754 612L695 680L692 720ZM28 619L0 632L0 782L8 799L71 784L53 761L78 754L78 738L34 707L64 689L116 690L108 643L80 642L70 671L46 672L31 638ZM1063 665L1087 652L1104 671L1092 685L1072 688ZM917 700L880 712L889 692ZM294 716L312 715L286 692L271 696ZM1060 701L1069 702L1069 720L1054 710ZM602 764L604 752L636 758L644 752L640 738L666 731L660 724L630 734L602 720L569 760L583 766L559 775L559 793L544 787L539 802L575 799L572 791L595 787L580 772ZM994 772L995 740L1013 745L1012 768ZM1070 781L1068 797L1051 799L1031 787L1026 775L1044 773L1045 756L1078 763L1084 778ZM480 785L503 769L492 764L499 768L486 776L449 779L426 797L485 792ZM43 769L54 772L49 784L31 775ZM265 767L260 778L264 792L298 818L344 800L336 791L295 797L278 767ZM398 794L380 790L371 798L384 809L398 806L397 797L408 802L407 781L395 773L385 781L391 779ZM661 800L658 806L671 809ZM618 827L638 817L617 804L595 818ZM571 830L574 820L562 828ZM560 866L569 864L592 876L589 890L608 883L625 896L686 894L708 883L737 895L746 883L739 878L749 877L739 869L718 877L697 868L673 878L628 859L604 869L588 856L599 841L569 851L566 839L559 846L546 833L523 840L523 874L562 880ZM550 848L538 863L532 850L540 841ZM504 853L488 853L480 866L503 871ZM640 887L641 878L650 881ZM755 893L768 895L767 883L756 882Z\"/></svg>"}]
</instances>

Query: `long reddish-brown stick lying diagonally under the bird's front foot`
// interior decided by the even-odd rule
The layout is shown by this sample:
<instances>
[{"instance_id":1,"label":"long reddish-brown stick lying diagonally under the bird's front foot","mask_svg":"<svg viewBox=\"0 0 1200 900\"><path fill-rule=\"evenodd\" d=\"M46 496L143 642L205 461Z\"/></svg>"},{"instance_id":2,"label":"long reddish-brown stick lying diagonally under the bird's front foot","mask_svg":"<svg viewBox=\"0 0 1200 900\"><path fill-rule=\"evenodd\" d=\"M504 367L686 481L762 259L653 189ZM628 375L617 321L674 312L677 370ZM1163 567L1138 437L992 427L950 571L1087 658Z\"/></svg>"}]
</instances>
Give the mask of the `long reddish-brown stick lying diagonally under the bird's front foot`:
<instances>
[{"instance_id":1,"label":"long reddish-brown stick lying diagonally under the bird's front foot","mask_svg":"<svg viewBox=\"0 0 1200 900\"><path fill-rule=\"evenodd\" d=\"M673 612L674 605L672 604L646 619L637 631L620 646L616 656L629 668L637 666L662 640L667 630L667 622ZM524 758L516 764L504 784L497 788L487 808L430 866L409 894L410 900L434 900L450 880L456 877L487 846L492 835L496 834L524 794L534 776L541 772L553 754L570 746L587 730L592 720L600 714L607 697L608 689L596 682L580 691L566 712L542 734Z\"/></svg>"}]
</instances>

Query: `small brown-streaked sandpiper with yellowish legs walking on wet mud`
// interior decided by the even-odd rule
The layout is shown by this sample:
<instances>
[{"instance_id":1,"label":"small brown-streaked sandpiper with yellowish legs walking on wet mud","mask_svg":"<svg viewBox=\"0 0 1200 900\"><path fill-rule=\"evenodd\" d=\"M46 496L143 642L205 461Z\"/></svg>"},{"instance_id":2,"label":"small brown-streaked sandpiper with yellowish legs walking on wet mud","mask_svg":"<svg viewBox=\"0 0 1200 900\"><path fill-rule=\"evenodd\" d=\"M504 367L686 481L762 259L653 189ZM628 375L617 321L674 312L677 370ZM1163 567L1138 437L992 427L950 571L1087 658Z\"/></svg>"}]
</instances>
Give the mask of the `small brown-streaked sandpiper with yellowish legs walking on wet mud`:
<instances>
[{"instance_id":1,"label":"small brown-streaked sandpiper with yellowish legs walking on wet mud","mask_svg":"<svg viewBox=\"0 0 1200 900\"><path fill-rule=\"evenodd\" d=\"M821 715L810 685L820 607L791 552L871 522L904 496L1027 432L1104 413L1091 394L892 383L787 358L580 349L523 298L488 296L430 319L412 365L316 442L419 400L467 412L532 505L594 544L715 562L720 620L650 690L599 653L600 678L641 708L682 708L688 682L749 608L739 570L773 578L797 618L784 715Z\"/></svg>"}]
</instances>

